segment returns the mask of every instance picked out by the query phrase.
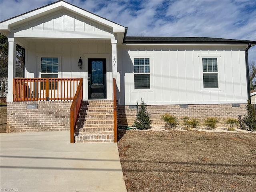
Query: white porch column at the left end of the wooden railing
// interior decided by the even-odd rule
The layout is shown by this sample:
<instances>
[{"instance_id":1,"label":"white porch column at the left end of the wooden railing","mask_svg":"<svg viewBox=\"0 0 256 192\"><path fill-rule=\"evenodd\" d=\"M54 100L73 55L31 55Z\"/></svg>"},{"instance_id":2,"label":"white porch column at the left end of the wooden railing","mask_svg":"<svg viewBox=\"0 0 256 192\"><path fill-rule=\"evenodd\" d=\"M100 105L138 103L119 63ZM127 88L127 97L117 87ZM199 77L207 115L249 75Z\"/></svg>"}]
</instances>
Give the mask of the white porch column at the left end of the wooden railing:
<instances>
[{"instance_id":1,"label":"white porch column at the left end of the wooden railing","mask_svg":"<svg viewBox=\"0 0 256 192\"><path fill-rule=\"evenodd\" d=\"M8 38L8 94L6 96L7 102L13 101L13 78L16 72L16 43L14 38Z\"/></svg>"}]
</instances>

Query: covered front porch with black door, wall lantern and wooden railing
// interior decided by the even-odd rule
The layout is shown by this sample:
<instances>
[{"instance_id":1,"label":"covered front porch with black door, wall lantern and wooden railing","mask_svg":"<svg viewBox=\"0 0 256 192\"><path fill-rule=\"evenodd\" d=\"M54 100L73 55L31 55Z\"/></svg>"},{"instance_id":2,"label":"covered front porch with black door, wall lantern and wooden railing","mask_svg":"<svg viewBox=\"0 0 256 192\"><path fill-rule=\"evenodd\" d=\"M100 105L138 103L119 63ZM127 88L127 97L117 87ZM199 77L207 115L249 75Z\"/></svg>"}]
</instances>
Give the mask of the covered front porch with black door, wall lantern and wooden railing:
<instances>
[{"instance_id":1,"label":"covered front porch with black door, wall lantern and wooden railing","mask_svg":"<svg viewBox=\"0 0 256 192\"><path fill-rule=\"evenodd\" d=\"M84 100L113 99L113 78L119 84L119 74L117 57L112 56L116 55L116 44L111 43L112 40L23 40L30 45L25 48L26 80L15 78L16 68L13 63L16 52L9 52L7 102L17 101L17 95L14 95L17 89L21 89L18 94L26 94L28 101L70 99L74 96L80 78L83 79ZM11 44L9 42L9 48ZM60 84L64 90L60 90ZM68 86L71 86L71 92L65 95Z\"/></svg>"}]
</instances>

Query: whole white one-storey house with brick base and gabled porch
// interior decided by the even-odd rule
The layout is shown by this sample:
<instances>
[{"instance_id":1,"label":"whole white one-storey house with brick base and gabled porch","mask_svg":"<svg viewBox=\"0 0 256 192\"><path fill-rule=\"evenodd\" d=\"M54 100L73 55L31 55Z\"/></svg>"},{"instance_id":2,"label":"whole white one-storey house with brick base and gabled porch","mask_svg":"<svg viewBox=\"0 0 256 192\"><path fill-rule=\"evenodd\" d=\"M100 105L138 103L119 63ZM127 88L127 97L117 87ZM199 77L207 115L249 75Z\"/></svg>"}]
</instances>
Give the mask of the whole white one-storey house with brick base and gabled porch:
<instances>
[{"instance_id":1,"label":"whole white one-storey house with brick base and gabled porch","mask_svg":"<svg viewBox=\"0 0 256 192\"><path fill-rule=\"evenodd\" d=\"M8 132L70 129L80 88L77 142L112 141L113 100L124 125L133 124L141 98L153 124L168 112L218 117L225 126L222 120L246 112L247 51L255 41L129 37L128 28L64 1L2 21L0 30L9 42ZM25 48L21 79L14 79L16 44Z\"/></svg>"}]
</instances>

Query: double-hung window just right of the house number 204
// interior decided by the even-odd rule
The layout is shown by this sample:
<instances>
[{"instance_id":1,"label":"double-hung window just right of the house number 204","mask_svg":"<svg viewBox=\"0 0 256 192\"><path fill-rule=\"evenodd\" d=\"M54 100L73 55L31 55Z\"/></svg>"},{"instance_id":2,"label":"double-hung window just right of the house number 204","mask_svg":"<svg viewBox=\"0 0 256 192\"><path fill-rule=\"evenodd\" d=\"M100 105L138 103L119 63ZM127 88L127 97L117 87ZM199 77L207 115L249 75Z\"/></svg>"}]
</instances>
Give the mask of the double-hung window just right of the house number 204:
<instances>
[{"instance_id":1,"label":"double-hung window just right of the house number 204","mask_svg":"<svg viewBox=\"0 0 256 192\"><path fill-rule=\"evenodd\" d=\"M134 90L150 89L150 58L134 58Z\"/></svg>"}]
</instances>

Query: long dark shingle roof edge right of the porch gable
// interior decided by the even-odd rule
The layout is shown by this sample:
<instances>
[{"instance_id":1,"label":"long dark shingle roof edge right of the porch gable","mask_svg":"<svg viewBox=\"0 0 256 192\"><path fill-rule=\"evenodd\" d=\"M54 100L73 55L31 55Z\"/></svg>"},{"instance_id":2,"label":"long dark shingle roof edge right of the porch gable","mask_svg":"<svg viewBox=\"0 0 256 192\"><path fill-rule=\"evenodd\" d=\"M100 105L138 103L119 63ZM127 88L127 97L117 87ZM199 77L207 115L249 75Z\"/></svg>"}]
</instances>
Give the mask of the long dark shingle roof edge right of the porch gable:
<instances>
[{"instance_id":1,"label":"long dark shingle roof edge right of the porch gable","mask_svg":"<svg viewBox=\"0 0 256 192\"><path fill-rule=\"evenodd\" d=\"M138 37L126 36L124 43L252 43L256 41L210 37Z\"/></svg>"}]
</instances>

